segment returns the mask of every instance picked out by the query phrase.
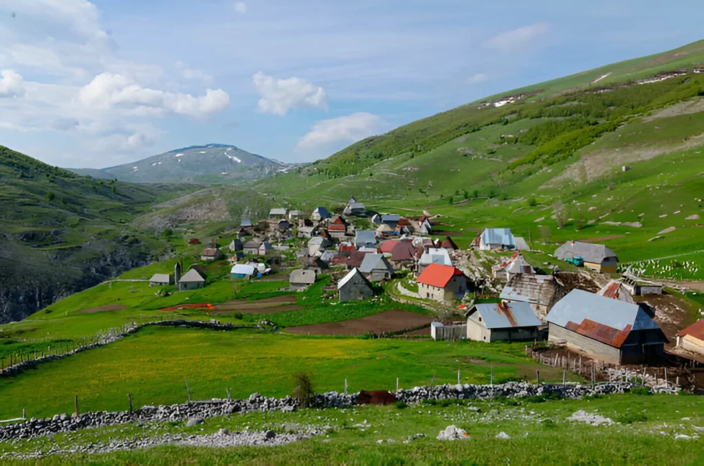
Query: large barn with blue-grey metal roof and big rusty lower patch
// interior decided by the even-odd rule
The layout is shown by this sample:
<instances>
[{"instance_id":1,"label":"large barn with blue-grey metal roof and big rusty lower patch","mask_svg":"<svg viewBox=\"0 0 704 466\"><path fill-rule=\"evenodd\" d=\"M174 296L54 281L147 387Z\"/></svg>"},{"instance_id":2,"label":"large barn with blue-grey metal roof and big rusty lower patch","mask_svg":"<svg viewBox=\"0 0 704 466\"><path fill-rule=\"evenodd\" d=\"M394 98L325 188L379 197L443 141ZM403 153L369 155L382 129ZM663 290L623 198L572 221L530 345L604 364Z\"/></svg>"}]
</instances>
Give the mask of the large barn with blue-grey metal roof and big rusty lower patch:
<instances>
[{"instance_id":1,"label":"large barn with blue-grey metal roof and big rusty lower patch","mask_svg":"<svg viewBox=\"0 0 704 466\"><path fill-rule=\"evenodd\" d=\"M667 341L645 303L631 304L575 289L546 317L550 341L611 363L658 359Z\"/></svg>"}]
</instances>

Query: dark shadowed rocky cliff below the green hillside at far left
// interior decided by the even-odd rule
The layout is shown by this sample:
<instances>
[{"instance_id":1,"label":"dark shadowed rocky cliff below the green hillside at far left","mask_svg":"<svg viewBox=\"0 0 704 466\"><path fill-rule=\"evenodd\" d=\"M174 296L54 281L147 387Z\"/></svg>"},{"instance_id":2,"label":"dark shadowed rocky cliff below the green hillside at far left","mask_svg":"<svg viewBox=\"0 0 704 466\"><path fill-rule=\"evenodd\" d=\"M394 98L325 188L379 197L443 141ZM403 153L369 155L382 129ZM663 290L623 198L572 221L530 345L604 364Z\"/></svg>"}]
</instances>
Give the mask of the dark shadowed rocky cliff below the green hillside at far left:
<instances>
[{"instance_id":1,"label":"dark shadowed rocky cliff below the green hillside at far left","mask_svg":"<svg viewBox=\"0 0 704 466\"><path fill-rule=\"evenodd\" d=\"M141 242L91 241L35 251L0 234L0 324L22 320L56 301L153 261Z\"/></svg>"}]
</instances>

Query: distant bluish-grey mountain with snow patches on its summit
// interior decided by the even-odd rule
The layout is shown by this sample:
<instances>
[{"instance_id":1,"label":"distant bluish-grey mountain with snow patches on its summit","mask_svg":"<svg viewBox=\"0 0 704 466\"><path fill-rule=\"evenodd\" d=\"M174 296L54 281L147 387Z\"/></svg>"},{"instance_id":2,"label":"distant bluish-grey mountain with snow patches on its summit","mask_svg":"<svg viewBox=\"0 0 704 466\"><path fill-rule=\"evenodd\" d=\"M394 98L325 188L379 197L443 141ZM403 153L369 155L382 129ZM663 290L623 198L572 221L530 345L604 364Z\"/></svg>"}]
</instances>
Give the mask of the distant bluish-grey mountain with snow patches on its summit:
<instances>
[{"instance_id":1,"label":"distant bluish-grey mountain with snow patches on its summit","mask_svg":"<svg viewBox=\"0 0 704 466\"><path fill-rule=\"evenodd\" d=\"M71 168L94 178L136 183L190 182L222 184L260 180L296 166L258 156L227 144L190 146L115 167Z\"/></svg>"}]
</instances>

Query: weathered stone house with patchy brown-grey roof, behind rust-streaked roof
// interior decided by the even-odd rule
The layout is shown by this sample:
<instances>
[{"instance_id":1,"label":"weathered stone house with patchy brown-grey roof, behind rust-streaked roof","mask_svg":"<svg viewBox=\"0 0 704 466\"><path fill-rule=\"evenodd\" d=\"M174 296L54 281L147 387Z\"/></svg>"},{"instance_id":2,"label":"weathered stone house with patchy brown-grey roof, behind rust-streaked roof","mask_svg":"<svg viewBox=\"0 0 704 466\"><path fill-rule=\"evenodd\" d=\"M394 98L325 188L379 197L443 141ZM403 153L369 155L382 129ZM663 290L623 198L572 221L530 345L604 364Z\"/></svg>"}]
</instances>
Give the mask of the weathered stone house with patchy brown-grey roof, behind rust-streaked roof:
<instances>
[{"instance_id":1,"label":"weathered stone house with patchy brown-grey roof, behind rust-streaked roof","mask_svg":"<svg viewBox=\"0 0 704 466\"><path fill-rule=\"evenodd\" d=\"M554 275L513 275L501 290L505 301L528 303L540 320L565 296L565 287Z\"/></svg>"}]
</instances>

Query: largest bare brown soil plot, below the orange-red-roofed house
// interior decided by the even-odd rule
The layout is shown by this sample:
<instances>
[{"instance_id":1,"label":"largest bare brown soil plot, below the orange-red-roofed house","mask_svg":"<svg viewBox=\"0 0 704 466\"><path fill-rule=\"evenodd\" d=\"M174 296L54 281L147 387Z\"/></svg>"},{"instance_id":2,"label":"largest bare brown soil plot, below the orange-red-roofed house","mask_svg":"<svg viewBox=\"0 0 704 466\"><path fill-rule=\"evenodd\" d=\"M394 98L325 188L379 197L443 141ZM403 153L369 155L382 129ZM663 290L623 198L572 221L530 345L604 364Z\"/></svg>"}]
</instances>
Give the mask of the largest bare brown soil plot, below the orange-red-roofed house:
<instances>
[{"instance_id":1,"label":"largest bare brown soil plot, below the orange-red-roofed house","mask_svg":"<svg viewBox=\"0 0 704 466\"><path fill-rule=\"evenodd\" d=\"M422 325L429 326L433 320L435 318L432 315L410 313L407 310L386 310L383 313L367 315L367 317L360 317L359 319L343 320L342 322L289 327L286 331L293 334L310 335L381 334L413 329Z\"/></svg>"}]
</instances>

